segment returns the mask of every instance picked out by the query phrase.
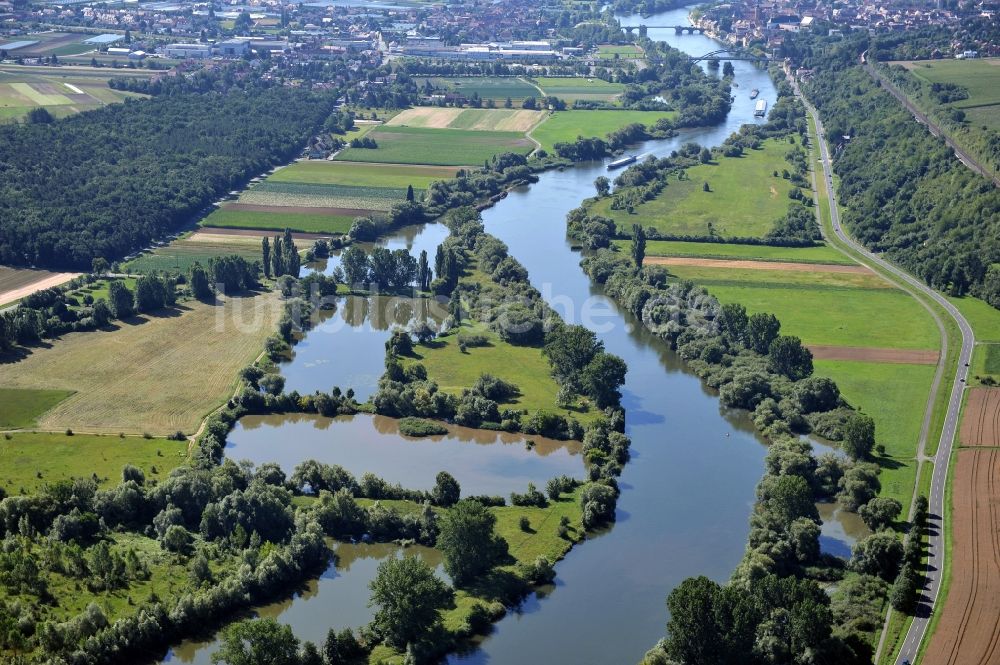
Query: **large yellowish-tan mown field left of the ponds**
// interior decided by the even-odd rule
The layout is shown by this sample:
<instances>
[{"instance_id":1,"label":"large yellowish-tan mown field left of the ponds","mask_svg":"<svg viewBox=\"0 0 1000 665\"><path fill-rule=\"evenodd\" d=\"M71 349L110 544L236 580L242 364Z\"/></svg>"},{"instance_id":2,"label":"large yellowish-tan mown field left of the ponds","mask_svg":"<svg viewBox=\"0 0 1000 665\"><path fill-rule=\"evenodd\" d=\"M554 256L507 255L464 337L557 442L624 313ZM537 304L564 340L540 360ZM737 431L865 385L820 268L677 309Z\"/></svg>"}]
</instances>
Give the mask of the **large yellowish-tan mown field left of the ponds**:
<instances>
[{"instance_id":1,"label":"large yellowish-tan mown field left of the ponds","mask_svg":"<svg viewBox=\"0 0 1000 665\"><path fill-rule=\"evenodd\" d=\"M0 370L5 388L75 391L38 422L80 432L193 432L229 398L240 368L277 324L276 296L183 303L116 322L113 331L70 333Z\"/></svg>"}]
</instances>

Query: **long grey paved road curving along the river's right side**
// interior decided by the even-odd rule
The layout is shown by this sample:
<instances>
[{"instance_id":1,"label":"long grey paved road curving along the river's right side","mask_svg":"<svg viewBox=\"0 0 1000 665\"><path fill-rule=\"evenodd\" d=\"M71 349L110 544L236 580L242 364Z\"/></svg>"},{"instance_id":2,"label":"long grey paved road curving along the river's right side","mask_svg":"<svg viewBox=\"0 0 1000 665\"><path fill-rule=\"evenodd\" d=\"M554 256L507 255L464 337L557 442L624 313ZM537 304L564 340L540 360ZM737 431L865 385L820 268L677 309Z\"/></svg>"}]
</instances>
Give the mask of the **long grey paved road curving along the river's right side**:
<instances>
[{"instance_id":1,"label":"long grey paved road curving along the river's right side","mask_svg":"<svg viewBox=\"0 0 1000 665\"><path fill-rule=\"evenodd\" d=\"M797 94L798 86L794 86ZM948 412L945 416L944 427L941 430L941 440L938 443L937 454L931 458L934 462L934 474L931 478L931 492L928 498L929 513L931 515L931 529L928 536L928 560L927 560L927 584L924 588L921 610L918 610L910 629L906 633L903 646L900 649L897 663L903 661L916 662L917 651L927 632L930 622L931 610L940 609L937 607L938 594L941 590L941 573L944 570L944 490L948 480L948 465L951 461L952 442L955 439L955 432L958 428L959 411L962 407L962 393L969 375L969 363L972 361L972 348L975 345L975 336L972 327L965 320L962 313L951 304L944 296L924 284L919 279L896 267L895 265L881 259L869 252L865 247L855 242L840 223L840 211L837 208L836 192L833 187L833 170L830 161L830 151L826 143L826 135L823 124L819 119L819 114L811 104L805 101L809 115L816 122L816 129L819 135L820 161L823 163L822 177L826 181L827 196L830 199L830 217L833 221L833 230L841 242L862 254L867 261L878 265L880 268L892 273L895 277L905 282L914 290L931 298L940 305L948 314L955 319L962 332L962 348L959 352L958 368L951 387L951 395L948 400ZM934 524L936 522L936 525ZM936 528L934 528L936 526Z\"/></svg>"}]
</instances>

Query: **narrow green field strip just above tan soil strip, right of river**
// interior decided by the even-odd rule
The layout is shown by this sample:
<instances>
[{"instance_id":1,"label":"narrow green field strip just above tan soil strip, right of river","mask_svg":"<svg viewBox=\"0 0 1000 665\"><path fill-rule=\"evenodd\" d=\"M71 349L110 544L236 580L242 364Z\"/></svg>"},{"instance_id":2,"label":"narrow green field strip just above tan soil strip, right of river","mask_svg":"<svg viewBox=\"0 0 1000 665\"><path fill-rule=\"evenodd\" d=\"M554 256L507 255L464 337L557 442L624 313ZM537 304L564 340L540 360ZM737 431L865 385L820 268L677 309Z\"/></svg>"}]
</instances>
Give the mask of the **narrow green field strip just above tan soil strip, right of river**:
<instances>
[{"instance_id":1,"label":"narrow green field strip just above tan soil strip, right of river","mask_svg":"<svg viewBox=\"0 0 1000 665\"><path fill-rule=\"evenodd\" d=\"M623 251L628 251L632 241L615 240L614 243ZM829 245L817 245L816 247L773 247L771 245L734 245L717 242L647 240L646 256L854 265L853 261Z\"/></svg>"}]
</instances>

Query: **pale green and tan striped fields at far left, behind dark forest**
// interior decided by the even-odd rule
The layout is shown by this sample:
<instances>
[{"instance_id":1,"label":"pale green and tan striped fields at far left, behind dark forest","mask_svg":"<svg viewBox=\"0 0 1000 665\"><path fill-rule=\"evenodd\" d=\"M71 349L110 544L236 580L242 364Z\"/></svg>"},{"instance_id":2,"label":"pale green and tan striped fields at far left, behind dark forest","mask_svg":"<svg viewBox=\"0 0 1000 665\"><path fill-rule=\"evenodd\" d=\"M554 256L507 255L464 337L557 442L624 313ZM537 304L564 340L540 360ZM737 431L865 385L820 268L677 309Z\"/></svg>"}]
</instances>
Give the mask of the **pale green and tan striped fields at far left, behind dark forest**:
<instances>
[{"instance_id":1,"label":"pale green and tan striped fields at far left, behind dark forest","mask_svg":"<svg viewBox=\"0 0 1000 665\"><path fill-rule=\"evenodd\" d=\"M0 121L18 120L40 106L65 117L141 96L112 90L107 83L112 75L104 71L94 76L94 71L89 67L0 66Z\"/></svg>"}]
</instances>

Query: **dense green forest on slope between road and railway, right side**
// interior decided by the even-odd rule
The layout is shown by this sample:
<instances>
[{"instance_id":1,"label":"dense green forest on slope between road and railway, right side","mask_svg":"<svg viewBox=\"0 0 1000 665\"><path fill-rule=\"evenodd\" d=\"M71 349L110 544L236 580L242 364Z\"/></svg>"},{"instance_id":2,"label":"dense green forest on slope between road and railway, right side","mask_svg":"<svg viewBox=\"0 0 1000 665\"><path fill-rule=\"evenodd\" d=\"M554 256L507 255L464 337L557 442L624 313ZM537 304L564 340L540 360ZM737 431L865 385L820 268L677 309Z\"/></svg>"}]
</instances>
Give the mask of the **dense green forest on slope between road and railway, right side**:
<instances>
[{"instance_id":1,"label":"dense green forest on slope between road and railway, right side","mask_svg":"<svg viewBox=\"0 0 1000 665\"><path fill-rule=\"evenodd\" d=\"M827 135L850 137L833 146L845 223L931 286L1000 307L1000 191L855 64L859 47L838 47L806 86Z\"/></svg>"}]
</instances>

